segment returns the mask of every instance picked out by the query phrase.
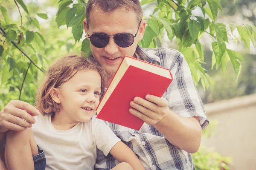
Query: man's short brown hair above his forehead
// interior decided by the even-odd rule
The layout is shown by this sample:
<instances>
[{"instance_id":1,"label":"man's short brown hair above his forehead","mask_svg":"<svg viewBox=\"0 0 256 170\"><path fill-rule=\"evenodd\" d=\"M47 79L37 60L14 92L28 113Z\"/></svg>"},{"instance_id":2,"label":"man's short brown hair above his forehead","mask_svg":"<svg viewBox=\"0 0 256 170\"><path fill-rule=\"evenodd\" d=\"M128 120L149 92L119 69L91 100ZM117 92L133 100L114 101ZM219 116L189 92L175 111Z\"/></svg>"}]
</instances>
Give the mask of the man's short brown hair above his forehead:
<instances>
[{"instance_id":1,"label":"man's short brown hair above his forehead","mask_svg":"<svg viewBox=\"0 0 256 170\"><path fill-rule=\"evenodd\" d=\"M87 23L89 23L90 20L90 11L95 6L98 6L102 11L109 13L122 7L126 8L127 11L132 9L137 13L138 22L140 22L143 17L143 10L139 0L88 0L85 12Z\"/></svg>"}]
</instances>

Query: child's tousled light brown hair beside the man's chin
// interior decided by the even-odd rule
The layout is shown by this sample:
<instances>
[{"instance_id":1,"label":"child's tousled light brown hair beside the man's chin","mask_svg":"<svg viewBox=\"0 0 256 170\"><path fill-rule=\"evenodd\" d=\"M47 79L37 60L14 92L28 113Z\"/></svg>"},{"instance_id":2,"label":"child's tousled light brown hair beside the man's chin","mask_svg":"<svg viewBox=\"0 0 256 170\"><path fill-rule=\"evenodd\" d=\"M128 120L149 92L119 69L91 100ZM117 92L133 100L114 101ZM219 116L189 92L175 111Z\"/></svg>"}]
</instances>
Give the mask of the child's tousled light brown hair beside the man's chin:
<instances>
[{"instance_id":1,"label":"child's tousled light brown hair beside the man's chin","mask_svg":"<svg viewBox=\"0 0 256 170\"><path fill-rule=\"evenodd\" d=\"M43 82L40 85L37 93L35 107L44 114L59 113L60 105L55 103L50 95L53 88L60 87L64 82L69 81L78 71L93 70L97 71L102 78L101 95L105 88L105 79L108 76L107 72L99 66L93 59L85 59L81 57L83 54L68 54L65 57L57 59L45 75Z\"/></svg>"}]
</instances>

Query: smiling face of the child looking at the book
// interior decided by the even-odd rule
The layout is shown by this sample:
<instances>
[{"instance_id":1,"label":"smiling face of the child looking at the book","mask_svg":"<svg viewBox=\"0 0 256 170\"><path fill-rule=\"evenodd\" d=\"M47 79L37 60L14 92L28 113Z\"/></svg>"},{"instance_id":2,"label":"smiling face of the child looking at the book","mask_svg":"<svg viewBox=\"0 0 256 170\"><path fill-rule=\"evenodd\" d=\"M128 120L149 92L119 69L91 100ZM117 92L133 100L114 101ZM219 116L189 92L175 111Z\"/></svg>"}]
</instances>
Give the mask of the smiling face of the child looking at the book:
<instances>
[{"instance_id":1,"label":"smiling face of the child looking at the book","mask_svg":"<svg viewBox=\"0 0 256 170\"><path fill-rule=\"evenodd\" d=\"M72 122L88 122L99 105L100 87L101 77L97 71L77 72L59 88L60 114Z\"/></svg>"}]
</instances>

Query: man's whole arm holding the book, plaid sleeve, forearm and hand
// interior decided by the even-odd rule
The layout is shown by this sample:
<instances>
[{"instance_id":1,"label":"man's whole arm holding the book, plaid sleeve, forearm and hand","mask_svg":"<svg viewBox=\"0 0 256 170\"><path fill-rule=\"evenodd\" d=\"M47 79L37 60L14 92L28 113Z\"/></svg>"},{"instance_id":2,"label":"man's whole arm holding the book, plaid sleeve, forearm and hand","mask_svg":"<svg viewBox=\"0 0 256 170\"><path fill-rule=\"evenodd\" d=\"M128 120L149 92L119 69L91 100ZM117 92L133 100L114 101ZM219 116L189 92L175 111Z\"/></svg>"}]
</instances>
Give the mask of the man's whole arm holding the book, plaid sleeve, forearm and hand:
<instances>
[{"instance_id":1,"label":"man's whole arm holding the book, plaid sleeve, forearm and hand","mask_svg":"<svg viewBox=\"0 0 256 170\"><path fill-rule=\"evenodd\" d=\"M165 66L173 76L166 99L152 95L145 99L135 97L130 112L154 125L176 147L194 153L200 146L201 130L208 125L208 119L185 57L167 48L164 54Z\"/></svg>"}]
</instances>

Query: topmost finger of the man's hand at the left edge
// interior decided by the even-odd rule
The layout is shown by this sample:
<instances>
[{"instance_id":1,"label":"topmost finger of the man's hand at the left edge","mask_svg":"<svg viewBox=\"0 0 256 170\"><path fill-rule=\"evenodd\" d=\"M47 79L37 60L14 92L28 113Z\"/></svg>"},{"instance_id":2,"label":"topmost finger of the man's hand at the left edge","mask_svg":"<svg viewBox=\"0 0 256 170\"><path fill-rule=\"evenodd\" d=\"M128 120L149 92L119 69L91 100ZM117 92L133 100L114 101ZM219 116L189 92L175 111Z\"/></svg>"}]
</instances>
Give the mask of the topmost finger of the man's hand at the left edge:
<instances>
[{"instance_id":1,"label":"topmost finger of the man's hand at the left edge","mask_svg":"<svg viewBox=\"0 0 256 170\"><path fill-rule=\"evenodd\" d=\"M12 104L15 108L26 110L31 116L36 116L40 114L40 112L34 106L30 105L27 102L12 100L10 104Z\"/></svg>"}]
</instances>

